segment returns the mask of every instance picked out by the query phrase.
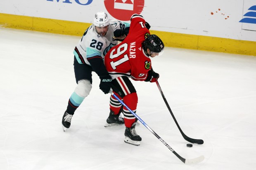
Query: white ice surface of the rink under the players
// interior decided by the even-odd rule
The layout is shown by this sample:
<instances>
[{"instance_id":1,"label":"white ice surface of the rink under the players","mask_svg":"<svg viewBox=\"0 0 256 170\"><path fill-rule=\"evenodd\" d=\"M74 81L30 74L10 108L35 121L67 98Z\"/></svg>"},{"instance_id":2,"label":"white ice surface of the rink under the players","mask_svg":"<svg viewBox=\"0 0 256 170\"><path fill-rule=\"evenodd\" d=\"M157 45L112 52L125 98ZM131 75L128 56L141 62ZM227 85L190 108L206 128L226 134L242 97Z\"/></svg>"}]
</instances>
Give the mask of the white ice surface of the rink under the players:
<instances>
[{"instance_id":1,"label":"white ice surface of the rink under the players","mask_svg":"<svg viewBox=\"0 0 256 170\"><path fill-rule=\"evenodd\" d=\"M61 120L76 87L73 49L81 37L0 28L1 170L255 170L256 57L166 48L152 58L159 84L183 132L204 144L186 147L156 83L132 81L142 123L136 147L124 126L104 128L109 94L93 88L64 133ZM210 42L209 42L210 43Z\"/></svg>"}]
</instances>

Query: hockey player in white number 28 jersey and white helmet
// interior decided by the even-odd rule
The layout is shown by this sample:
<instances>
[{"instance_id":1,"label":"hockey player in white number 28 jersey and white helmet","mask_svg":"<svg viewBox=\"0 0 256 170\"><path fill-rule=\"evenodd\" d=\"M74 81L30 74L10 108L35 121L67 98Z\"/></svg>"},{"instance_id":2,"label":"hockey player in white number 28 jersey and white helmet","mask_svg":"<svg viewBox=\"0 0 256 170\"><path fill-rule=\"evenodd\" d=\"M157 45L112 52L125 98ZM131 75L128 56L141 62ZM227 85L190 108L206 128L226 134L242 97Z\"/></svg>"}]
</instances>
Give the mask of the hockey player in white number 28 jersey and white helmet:
<instances>
[{"instance_id":1,"label":"hockey player in white number 28 jersey and white helmet","mask_svg":"<svg viewBox=\"0 0 256 170\"><path fill-rule=\"evenodd\" d=\"M81 105L86 96L89 95L92 88L92 71L100 77L100 89L109 93L111 88L111 76L107 72L103 59L107 51L118 41L113 39L115 30L128 30L129 23L109 19L105 12L97 12L93 24L85 30L83 37L76 45L74 54L74 72L77 86L69 98L68 106L62 117L62 127L70 127L71 118L76 109ZM120 106L118 106L120 107ZM124 124L119 114L114 115L110 111L107 124Z\"/></svg>"}]
</instances>

